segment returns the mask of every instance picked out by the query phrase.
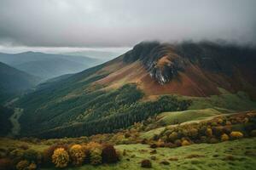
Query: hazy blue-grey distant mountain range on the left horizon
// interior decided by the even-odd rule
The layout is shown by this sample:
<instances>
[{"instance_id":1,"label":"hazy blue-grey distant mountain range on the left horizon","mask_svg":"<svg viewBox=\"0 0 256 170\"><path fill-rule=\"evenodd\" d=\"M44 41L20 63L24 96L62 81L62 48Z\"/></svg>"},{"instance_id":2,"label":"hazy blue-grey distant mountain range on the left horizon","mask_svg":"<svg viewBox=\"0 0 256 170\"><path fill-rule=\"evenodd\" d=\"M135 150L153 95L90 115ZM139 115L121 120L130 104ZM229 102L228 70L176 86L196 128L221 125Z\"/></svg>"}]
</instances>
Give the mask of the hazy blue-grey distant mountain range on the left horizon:
<instances>
[{"instance_id":1,"label":"hazy blue-grey distant mountain range on the left horizon","mask_svg":"<svg viewBox=\"0 0 256 170\"><path fill-rule=\"evenodd\" d=\"M83 71L101 62L99 59L83 56L44 54L38 52L0 54L0 61L20 71L40 77L42 81L59 77L63 74Z\"/></svg>"}]
</instances>

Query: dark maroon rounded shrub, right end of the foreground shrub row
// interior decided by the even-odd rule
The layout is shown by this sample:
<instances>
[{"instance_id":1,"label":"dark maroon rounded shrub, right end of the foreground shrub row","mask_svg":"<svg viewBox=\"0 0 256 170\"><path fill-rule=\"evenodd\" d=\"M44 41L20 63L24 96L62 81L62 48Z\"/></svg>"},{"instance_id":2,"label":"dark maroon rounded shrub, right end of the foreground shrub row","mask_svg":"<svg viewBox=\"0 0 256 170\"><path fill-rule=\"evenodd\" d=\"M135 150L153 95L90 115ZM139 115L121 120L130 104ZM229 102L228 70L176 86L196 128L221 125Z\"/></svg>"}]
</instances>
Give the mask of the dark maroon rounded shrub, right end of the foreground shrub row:
<instances>
[{"instance_id":1,"label":"dark maroon rounded shrub, right end of the foreground shrub row","mask_svg":"<svg viewBox=\"0 0 256 170\"><path fill-rule=\"evenodd\" d=\"M106 145L102 150L102 161L106 163L114 163L119 161L119 156L113 145Z\"/></svg>"}]
</instances>

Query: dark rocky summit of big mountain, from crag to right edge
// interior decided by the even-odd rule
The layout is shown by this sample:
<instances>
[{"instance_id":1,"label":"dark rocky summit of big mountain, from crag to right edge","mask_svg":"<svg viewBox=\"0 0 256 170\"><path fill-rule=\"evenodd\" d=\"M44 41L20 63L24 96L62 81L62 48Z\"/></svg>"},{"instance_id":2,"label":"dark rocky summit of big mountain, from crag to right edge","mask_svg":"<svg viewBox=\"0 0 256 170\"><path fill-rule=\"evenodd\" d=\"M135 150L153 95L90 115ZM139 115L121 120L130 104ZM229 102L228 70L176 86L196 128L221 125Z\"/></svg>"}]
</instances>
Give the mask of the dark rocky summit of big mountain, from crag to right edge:
<instances>
[{"instance_id":1,"label":"dark rocky summit of big mountain, from crag to right edge","mask_svg":"<svg viewBox=\"0 0 256 170\"><path fill-rule=\"evenodd\" d=\"M247 71L256 77L255 48L220 45L214 42L160 43L141 42L123 56L125 62L140 60L149 75L160 84L172 81L188 65L232 77L234 72ZM255 81L251 81L255 82Z\"/></svg>"}]
</instances>

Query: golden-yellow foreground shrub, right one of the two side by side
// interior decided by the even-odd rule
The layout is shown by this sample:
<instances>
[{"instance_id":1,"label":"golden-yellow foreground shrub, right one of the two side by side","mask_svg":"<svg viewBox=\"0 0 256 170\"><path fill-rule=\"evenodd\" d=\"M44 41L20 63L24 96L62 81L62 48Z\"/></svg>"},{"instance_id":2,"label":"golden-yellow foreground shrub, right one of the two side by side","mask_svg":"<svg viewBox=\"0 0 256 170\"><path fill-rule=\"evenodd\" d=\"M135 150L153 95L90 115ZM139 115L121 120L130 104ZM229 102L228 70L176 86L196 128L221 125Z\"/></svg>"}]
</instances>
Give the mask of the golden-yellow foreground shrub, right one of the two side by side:
<instances>
[{"instance_id":1,"label":"golden-yellow foreground shrub, right one of the two side by side","mask_svg":"<svg viewBox=\"0 0 256 170\"><path fill-rule=\"evenodd\" d=\"M73 165L82 165L82 163L84 162L85 153L80 144L73 144L73 146L69 150L69 153L73 161Z\"/></svg>"}]
</instances>

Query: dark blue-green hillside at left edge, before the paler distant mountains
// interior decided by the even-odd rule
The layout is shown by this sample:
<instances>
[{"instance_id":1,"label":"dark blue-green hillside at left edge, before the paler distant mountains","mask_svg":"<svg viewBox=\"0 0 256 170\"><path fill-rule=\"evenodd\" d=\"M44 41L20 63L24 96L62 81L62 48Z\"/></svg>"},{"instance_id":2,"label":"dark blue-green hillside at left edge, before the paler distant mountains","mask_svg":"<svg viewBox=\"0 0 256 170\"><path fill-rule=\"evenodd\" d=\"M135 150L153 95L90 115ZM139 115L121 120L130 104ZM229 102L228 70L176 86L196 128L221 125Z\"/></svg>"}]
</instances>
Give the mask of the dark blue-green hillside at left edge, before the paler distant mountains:
<instances>
[{"instance_id":1,"label":"dark blue-green hillside at left edge, before the paler distant mountains","mask_svg":"<svg viewBox=\"0 0 256 170\"><path fill-rule=\"evenodd\" d=\"M33 88L39 78L0 62L0 102Z\"/></svg>"}]
</instances>

